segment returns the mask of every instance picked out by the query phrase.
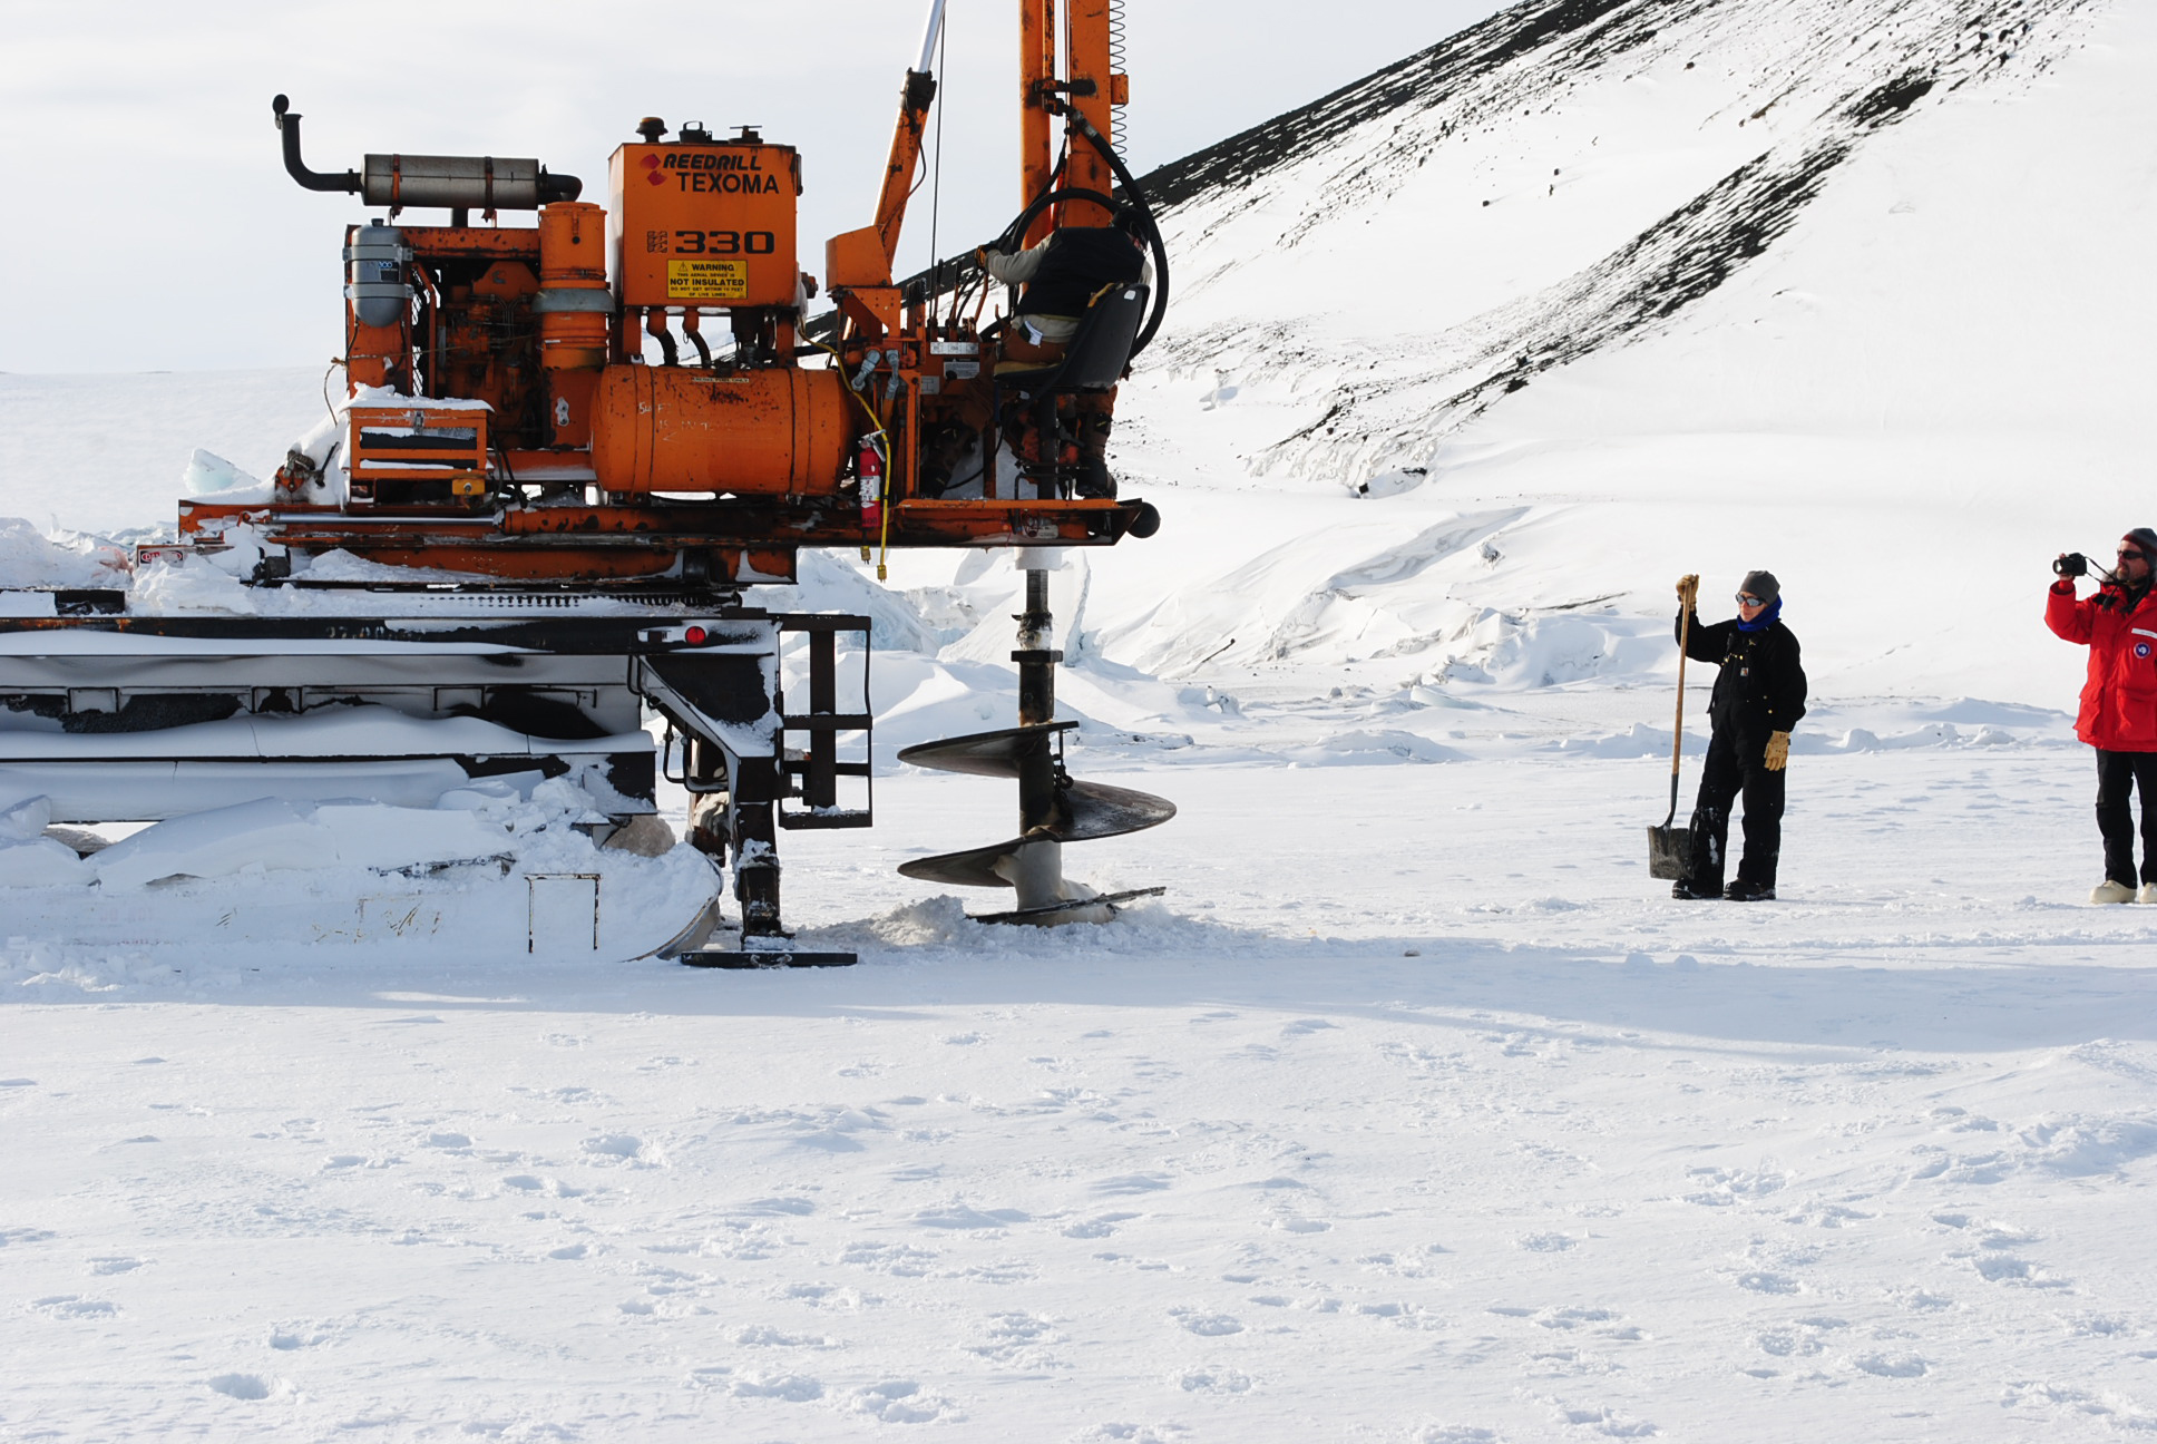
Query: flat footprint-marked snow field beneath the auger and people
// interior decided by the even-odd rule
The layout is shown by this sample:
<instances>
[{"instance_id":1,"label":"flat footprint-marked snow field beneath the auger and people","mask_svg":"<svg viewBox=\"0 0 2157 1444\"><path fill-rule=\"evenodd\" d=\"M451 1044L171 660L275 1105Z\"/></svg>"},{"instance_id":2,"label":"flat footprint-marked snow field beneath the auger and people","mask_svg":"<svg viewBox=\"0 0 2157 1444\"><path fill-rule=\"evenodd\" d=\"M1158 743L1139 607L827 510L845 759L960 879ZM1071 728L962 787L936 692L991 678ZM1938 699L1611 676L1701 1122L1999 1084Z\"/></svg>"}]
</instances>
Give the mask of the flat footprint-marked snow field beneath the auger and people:
<instances>
[{"instance_id":1,"label":"flat footprint-marked snow field beneath the auger and people","mask_svg":"<svg viewBox=\"0 0 2157 1444\"><path fill-rule=\"evenodd\" d=\"M2084 762L1799 758L1758 909L1568 755L1107 773L1184 816L1072 874L1173 891L1055 932L891 878L1009 803L895 777L792 853L830 973L17 943L0 1422L2133 1433L2157 913L2066 902Z\"/></svg>"}]
</instances>

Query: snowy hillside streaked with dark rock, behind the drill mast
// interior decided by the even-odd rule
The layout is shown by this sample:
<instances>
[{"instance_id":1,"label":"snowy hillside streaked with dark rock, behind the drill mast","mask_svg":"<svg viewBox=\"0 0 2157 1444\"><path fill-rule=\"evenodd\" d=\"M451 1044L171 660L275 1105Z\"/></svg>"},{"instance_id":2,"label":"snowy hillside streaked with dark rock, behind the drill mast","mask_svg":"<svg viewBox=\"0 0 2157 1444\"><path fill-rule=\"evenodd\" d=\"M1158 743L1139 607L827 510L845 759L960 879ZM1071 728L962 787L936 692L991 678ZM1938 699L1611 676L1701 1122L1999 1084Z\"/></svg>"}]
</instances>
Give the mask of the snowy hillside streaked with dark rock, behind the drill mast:
<instances>
[{"instance_id":1,"label":"snowy hillside streaked with dark rock, behind the drill mast","mask_svg":"<svg viewBox=\"0 0 2157 1444\"><path fill-rule=\"evenodd\" d=\"M1428 451L1490 399L1657 328L1723 285L1790 231L1868 138L1991 82L2028 80L2073 43L2075 17L2099 2L1527 0L1141 177L1169 216L1178 259L1195 261L1180 268L1184 294L1208 302L1186 306L1182 322L1171 315L1148 365L1201 369L1240 356L1309 373L1309 419L1258 453L1262 468L1355 471ZM1713 80L1687 78L1682 95L1708 101L1682 99L1670 84L1695 67ZM1682 117L1680 149L1721 147L1715 153L1728 160L1687 190L1641 192L1665 209L1648 212L1657 218L1646 229L1603 235L1600 255L1572 274L1475 315L1415 315L1413 289L1404 291L1409 365L1393 365L1385 339L1368 337L1378 354L1342 367L1342 339L1307 324L1324 306L1275 300L1311 283L1286 285L1266 270L1266 253L1320 253L1346 227L1398 227L1402 276L1447 263L1432 248L1428 196L1421 212L1393 214L1426 164L1519 158L1523 136L1568 108L1618 117L1613 134L1598 136L1607 147L1598 160L1611 164L1626 145L1650 145L1622 130L1624 108L1641 95L1700 106ZM1659 134L1654 142L1672 145L1672 130ZM1266 270L1275 283L1245 285L1238 270ZM1247 291L1251 304L1227 315L1221 298Z\"/></svg>"}]
</instances>

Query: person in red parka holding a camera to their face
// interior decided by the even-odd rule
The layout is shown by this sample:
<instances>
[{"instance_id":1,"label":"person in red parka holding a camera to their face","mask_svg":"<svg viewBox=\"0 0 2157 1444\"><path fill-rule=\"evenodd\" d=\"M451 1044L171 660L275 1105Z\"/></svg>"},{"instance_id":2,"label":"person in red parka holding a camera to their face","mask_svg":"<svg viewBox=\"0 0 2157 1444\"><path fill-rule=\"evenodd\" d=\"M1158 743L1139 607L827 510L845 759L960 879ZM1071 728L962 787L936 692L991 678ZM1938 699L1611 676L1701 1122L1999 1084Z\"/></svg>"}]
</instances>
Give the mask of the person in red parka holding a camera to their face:
<instances>
[{"instance_id":1,"label":"person in red parka holding a camera to their face","mask_svg":"<svg viewBox=\"0 0 2157 1444\"><path fill-rule=\"evenodd\" d=\"M2060 581L2045 598L2045 626L2090 648L2075 736L2097 749L2097 831L2105 881L2090 902L2157 902L2157 531L2120 537L2118 566L2094 596L2075 598L2082 557L2053 563ZM2135 822L2129 792L2142 792L2142 872L2135 887Z\"/></svg>"}]
</instances>

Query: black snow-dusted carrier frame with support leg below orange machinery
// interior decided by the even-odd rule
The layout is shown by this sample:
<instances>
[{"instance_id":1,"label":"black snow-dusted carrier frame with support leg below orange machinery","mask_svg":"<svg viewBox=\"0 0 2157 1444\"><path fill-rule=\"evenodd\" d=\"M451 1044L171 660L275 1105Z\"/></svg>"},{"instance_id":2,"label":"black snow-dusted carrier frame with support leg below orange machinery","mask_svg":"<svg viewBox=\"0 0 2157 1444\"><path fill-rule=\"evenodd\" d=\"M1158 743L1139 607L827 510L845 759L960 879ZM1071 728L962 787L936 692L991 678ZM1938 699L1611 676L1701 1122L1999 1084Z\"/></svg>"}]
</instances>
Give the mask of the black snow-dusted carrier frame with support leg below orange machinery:
<instances>
[{"instance_id":1,"label":"black snow-dusted carrier frame with support leg below orange machinery","mask_svg":"<svg viewBox=\"0 0 2157 1444\"><path fill-rule=\"evenodd\" d=\"M248 796L352 796L356 781L380 788L369 792L380 801L431 805L444 777L455 786L541 771L576 775L621 820L658 809L651 708L688 738L690 842L718 863L731 859L740 902L742 943L729 954L740 963L714 961L710 948L684 961L768 967L822 956L794 950L781 924L777 840L787 825L874 822L869 617L725 600L623 615L123 607L116 591L0 591L0 613L13 613L0 615L0 805L13 801L6 792L52 796L56 822L145 822ZM861 704L848 710L841 632L861 637ZM809 637L792 701L787 635ZM477 749L475 719L516 745ZM354 749L354 734L380 745ZM839 755L841 740L858 751ZM863 799L841 807L839 779L850 777Z\"/></svg>"}]
</instances>

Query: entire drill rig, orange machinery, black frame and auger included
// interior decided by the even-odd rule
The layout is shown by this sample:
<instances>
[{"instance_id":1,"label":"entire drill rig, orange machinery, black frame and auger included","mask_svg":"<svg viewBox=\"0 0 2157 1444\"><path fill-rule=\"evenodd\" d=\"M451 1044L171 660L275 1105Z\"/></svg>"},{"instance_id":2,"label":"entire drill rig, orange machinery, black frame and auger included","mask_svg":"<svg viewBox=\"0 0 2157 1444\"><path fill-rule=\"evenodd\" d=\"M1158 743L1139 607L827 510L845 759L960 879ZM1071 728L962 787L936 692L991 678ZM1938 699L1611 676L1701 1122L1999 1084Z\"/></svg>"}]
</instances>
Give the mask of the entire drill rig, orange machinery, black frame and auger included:
<instances>
[{"instance_id":1,"label":"entire drill rig, orange machinery, black frame and auger included","mask_svg":"<svg viewBox=\"0 0 2157 1444\"><path fill-rule=\"evenodd\" d=\"M669 136L645 119L610 155L600 207L576 177L522 158L311 171L300 114L276 97L291 177L384 212L345 231L347 397L261 492L183 501L177 544L138 548L138 566L222 557L231 572L246 557L250 587L306 604L276 619L145 615L125 591L52 591L50 607L17 594L0 619L0 790L39 786L63 822L155 820L205 796L352 794L354 777L418 799L457 771L528 764L574 775L619 822L656 809L664 766L692 794L690 840L731 859L740 900L740 952L688 961L852 961L792 945L777 829L871 820L867 619L768 613L744 594L794 581L800 548L876 553L882 574L889 548L1014 546L1027 548L1020 725L908 760L1018 779L1020 833L908 872L1014 887L999 917L1113 913L1119 898L1063 881L1061 844L1173 807L1063 771L1046 566L1053 548L1160 522L1087 466L1104 397L1167 296L1158 229L1113 145L1128 93L1117 4L1018 6L1025 207L1001 244L1119 220L1152 253L1148 278L1098 287L1046 350L979 324L988 276L968 261L893 276L943 0L906 73L876 218L826 246L822 317L796 259L800 158L755 130ZM406 212L449 214L410 224ZM537 224L498 224L505 212ZM330 553L347 559L317 566ZM841 706L848 632L863 680ZM794 635L807 680L787 693ZM520 745L481 753L408 725L362 758L349 727L334 755L311 740L311 719L354 706L483 721ZM671 727L662 749L638 745L645 708ZM858 805L841 803L841 779L858 779Z\"/></svg>"}]
</instances>

